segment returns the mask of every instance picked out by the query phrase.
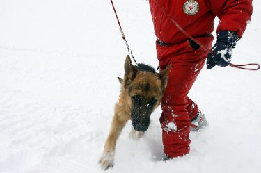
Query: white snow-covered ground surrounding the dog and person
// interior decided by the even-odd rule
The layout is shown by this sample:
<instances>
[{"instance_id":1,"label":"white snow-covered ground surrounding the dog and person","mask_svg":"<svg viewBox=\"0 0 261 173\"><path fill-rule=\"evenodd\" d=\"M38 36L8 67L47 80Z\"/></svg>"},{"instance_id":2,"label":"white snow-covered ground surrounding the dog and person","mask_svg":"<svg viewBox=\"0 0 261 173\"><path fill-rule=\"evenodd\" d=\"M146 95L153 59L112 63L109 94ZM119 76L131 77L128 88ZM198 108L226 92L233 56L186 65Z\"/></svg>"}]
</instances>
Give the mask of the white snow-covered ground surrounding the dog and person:
<instances>
[{"instance_id":1,"label":"white snow-covered ground surrounding the dog and person","mask_svg":"<svg viewBox=\"0 0 261 173\"><path fill-rule=\"evenodd\" d=\"M136 60L157 67L148 1L114 3ZM260 63L261 2L253 5L232 63ZM101 172L127 55L111 2L3 0L0 23L0 172ZM190 153L161 161L158 108L139 140L127 123L106 172L260 172L260 73L204 67L189 96L208 126L191 132Z\"/></svg>"}]
</instances>

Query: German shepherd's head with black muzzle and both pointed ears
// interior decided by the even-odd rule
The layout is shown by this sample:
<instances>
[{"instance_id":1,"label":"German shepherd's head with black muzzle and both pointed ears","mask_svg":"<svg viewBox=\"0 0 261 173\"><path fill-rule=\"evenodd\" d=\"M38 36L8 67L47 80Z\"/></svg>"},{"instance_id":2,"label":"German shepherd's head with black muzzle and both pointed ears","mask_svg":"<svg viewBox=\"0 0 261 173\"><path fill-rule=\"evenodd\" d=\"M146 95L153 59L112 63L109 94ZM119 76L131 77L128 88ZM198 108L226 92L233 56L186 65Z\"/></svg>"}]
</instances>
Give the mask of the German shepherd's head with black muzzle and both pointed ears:
<instances>
[{"instance_id":1,"label":"German shepherd's head with black muzzle and both pointed ears","mask_svg":"<svg viewBox=\"0 0 261 173\"><path fill-rule=\"evenodd\" d=\"M134 67L127 56L124 79L119 81L125 90L125 99L131 110L132 125L135 131L146 131L150 125L150 115L159 106L168 81L171 67L160 73L148 65Z\"/></svg>"}]
</instances>

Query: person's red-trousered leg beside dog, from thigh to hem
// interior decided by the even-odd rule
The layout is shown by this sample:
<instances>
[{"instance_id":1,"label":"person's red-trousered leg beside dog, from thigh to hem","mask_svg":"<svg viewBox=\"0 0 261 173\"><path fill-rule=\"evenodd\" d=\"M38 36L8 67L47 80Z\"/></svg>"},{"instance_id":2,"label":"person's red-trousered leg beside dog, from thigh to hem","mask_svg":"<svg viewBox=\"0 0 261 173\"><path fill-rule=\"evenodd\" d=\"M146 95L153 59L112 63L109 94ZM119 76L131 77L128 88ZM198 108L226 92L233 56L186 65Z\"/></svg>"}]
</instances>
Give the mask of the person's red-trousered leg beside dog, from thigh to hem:
<instances>
[{"instance_id":1,"label":"person's red-trousered leg beside dog, from thigh to hem","mask_svg":"<svg viewBox=\"0 0 261 173\"><path fill-rule=\"evenodd\" d=\"M204 63L204 57L173 57L168 62L172 67L161 102L163 113L160 122L164 152L169 158L189 153L190 115L194 114L193 112L198 112L198 107L193 104L187 94Z\"/></svg>"}]
</instances>

